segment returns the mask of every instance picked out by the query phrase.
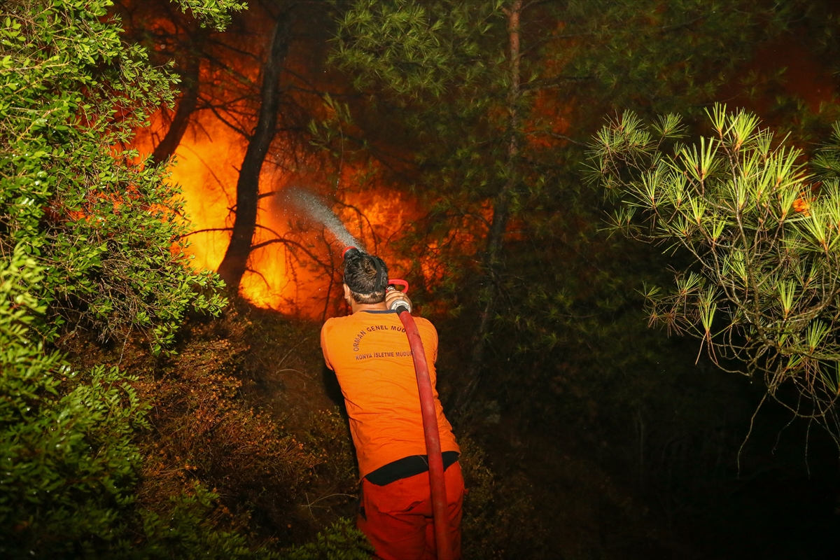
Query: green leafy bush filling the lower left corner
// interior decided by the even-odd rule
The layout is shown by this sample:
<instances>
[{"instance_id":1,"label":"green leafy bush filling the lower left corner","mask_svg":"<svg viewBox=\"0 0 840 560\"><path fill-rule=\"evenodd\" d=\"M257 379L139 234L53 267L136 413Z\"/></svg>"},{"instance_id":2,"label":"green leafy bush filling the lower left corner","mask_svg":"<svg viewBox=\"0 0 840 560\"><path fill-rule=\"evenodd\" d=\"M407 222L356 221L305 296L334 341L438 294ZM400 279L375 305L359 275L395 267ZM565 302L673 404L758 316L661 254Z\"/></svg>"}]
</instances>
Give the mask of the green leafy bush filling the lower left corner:
<instances>
[{"instance_id":1,"label":"green leafy bush filling the lower left corner","mask_svg":"<svg viewBox=\"0 0 840 560\"><path fill-rule=\"evenodd\" d=\"M131 442L146 406L132 378L73 372L29 325L44 271L18 246L0 261L0 552L70 553L113 539L133 500ZM7 556L7 557L8 557Z\"/></svg>"}]
</instances>

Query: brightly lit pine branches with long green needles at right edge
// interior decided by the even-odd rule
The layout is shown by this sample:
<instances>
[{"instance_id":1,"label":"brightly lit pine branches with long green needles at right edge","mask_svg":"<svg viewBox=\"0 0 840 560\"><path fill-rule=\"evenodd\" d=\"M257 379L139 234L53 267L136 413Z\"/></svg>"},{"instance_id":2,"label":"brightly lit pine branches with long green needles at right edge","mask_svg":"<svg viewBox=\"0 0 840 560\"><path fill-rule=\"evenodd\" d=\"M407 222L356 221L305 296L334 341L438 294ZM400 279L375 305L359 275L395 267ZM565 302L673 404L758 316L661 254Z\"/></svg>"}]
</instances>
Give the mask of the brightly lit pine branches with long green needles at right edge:
<instances>
[{"instance_id":1,"label":"brightly lit pine branches with long green needles at right edge","mask_svg":"<svg viewBox=\"0 0 840 560\"><path fill-rule=\"evenodd\" d=\"M674 290L648 288L651 322L762 375L769 395L837 435L840 128L815 161L819 182L753 114L716 106L709 118L713 135L693 145L673 115L647 126L624 113L601 129L592 170L622 200L612 227L690 257Z\"/></svg>"}]
</instances>

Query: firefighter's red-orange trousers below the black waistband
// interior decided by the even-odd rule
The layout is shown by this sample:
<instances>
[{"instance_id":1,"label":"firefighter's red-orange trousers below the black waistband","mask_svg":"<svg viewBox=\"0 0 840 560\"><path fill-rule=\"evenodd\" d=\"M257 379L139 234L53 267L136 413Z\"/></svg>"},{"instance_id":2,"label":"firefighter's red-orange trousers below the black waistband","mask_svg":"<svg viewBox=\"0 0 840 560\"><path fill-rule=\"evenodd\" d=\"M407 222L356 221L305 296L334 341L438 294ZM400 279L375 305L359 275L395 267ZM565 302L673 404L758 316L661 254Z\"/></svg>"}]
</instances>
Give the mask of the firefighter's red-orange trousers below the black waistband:
<instances>
[{"instance_id":1,"label":"firefighter's red-orange trousers below the black waistband","mask_svg":"<svg viewBox=\"0 0 840 560\"><path fill-rule=\"evenodd\" d=\"M464 477L460 465L449 465L444 473L449 531L454 557L461 557L461 508L464 505ZM435 560L432 491L428 472L377 486L362 479L357 525L370 539L381 560Z\"/></svg>"}]
</instances>

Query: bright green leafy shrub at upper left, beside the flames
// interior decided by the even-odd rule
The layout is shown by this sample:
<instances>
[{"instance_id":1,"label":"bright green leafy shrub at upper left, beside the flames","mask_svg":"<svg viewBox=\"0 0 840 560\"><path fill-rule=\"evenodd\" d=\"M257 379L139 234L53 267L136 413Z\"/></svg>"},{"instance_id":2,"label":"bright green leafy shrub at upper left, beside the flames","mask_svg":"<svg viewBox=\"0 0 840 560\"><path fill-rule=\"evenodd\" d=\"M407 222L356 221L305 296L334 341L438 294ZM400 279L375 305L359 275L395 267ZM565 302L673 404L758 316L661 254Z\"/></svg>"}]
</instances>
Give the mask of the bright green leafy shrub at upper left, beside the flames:
<instances>
[{"instance_id":1,"label":"bright green leafy shrub at upper left, beside the flames","mask_svg":"<svg viewBox=\"0 0 840 560\"><path fill-rule=\"evenodd\" d=\"M224 301L213 273L186 266L165 171L123 149L171 102L175 76L122 42L110 4L3 4L0 250L20 245L45 270L46 337L70 321L105 339L139 329L160 350L188 307L217 313Z\"/></svg>"}]
</instances>

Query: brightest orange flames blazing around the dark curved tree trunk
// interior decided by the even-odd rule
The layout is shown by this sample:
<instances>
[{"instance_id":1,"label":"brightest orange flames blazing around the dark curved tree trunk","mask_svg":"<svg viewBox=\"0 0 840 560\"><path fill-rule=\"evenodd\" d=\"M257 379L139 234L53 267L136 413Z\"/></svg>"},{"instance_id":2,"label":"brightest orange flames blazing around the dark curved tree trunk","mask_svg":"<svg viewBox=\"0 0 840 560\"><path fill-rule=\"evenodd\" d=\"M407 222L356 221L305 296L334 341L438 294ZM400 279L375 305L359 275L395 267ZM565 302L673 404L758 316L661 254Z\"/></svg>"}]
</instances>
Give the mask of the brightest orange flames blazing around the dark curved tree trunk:
<instances>
[{"instance_id":1,"label":"brightest orange flames blazing around the dark curved tree trunk","mask_svg":"<svg viewBox=\"0 0 840 560\"><path fill-rule=\"evenodd\" d=\"M211 115L197 113L197 121L181 139L169 181L181 188L184 211L191 222L189 245L184 249L197 270L218 270L230 240L234 223L237 167L247 144L228 126ZM162 114L155 115L150 128L140 131L134 147L148 153L155 144L155 131L165 129ZM403 192L387 188L364 189L360 182L370 170L344 165L339 185L344 199L334 211L349 232L365 247L390 264L392 276L403 275L410 259L401 259L390 248L403 228L418 215L417 201ZM307 216L282 207L271 196L286 186L308 186L323 195L323 177L315 175L309 185L300 174L281 170L267 159L260 174L258 227L249 257L249 270L240 283L240 294L256 306L289 315L320 318L342 308L340 291L341 249L331 234ZM321 186L321 188L318 188ZM431 279L430 279L431 280Z\"/></svg>"}]
</instances>

